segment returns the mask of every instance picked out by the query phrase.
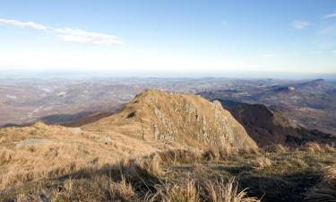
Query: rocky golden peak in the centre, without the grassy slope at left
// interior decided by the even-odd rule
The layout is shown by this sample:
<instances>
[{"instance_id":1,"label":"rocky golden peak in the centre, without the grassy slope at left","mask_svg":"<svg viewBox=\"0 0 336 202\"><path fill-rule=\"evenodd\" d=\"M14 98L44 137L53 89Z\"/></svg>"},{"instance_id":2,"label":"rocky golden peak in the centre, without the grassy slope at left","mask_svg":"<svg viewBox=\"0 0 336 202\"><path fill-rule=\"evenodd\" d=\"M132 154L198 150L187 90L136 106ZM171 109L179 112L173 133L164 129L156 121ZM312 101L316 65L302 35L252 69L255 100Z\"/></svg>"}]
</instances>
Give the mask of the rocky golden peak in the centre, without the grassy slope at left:
<instances>
[{"instance_id":1,"label":"rocky golden peak in the centre, without the grassy slope at left","mask_svg":"<svg viewBox=\"0 0 336 202\"><path fill-rule=\"evenodd\" d=\"M201 96L146 90L115 115L83 126L89 131L116 131L143 140L183 145L219 145L255 149L254 141L218 101Z\"/></svg>"}]
</instances>

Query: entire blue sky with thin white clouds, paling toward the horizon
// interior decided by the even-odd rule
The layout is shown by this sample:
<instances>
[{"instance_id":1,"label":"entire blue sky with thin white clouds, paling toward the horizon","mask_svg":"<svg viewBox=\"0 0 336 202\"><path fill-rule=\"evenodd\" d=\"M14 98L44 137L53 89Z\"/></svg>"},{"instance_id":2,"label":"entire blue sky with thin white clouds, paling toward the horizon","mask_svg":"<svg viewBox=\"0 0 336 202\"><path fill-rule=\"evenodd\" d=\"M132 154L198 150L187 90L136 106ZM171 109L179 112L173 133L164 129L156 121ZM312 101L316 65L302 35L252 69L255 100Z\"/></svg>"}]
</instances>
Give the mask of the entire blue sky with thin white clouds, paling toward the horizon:
<instances>
[{"instance_id":1,"label":"entire blue sky with thin white clouds, paling toward the horizon","mask_svg":"<svg viewBox=\"0 0 336 202\"><path fill-rule=\"evenodd\" d=\"M2 0L0 70L336 74L336 1Z\"/></svg>"}]
</instances>

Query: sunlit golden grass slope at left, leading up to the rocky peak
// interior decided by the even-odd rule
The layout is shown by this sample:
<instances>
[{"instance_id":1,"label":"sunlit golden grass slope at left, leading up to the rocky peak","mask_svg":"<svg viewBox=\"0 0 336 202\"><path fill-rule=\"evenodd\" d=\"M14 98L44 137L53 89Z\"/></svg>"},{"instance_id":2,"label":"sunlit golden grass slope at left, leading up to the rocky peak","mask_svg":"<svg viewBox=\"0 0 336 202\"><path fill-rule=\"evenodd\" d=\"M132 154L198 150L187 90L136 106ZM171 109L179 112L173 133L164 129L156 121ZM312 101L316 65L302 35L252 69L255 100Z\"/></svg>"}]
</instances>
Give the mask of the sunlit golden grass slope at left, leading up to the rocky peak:
<instances>
[{"instance_id":1,"label":"sunlit golden grass slope at left, leading up to the rocky peak","mask_svg":"<svg viewBox=\"0 0 336 202\"><path fill-rule=\"evenodd\" d=\"M159 144L113 132L95 134L41 123L3 128L0 136L0 190L159 151Z\"/></svg>"}]
</instances>

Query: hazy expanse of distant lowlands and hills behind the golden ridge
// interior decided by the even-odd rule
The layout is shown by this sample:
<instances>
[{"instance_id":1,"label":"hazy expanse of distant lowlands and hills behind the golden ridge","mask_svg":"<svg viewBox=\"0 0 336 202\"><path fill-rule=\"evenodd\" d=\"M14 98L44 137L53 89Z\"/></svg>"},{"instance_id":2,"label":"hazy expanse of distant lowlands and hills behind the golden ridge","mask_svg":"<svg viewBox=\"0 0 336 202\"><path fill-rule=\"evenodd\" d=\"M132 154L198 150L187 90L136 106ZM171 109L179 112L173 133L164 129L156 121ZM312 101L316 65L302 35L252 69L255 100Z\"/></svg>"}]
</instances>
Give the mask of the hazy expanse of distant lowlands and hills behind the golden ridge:
<instances>
[{"instance_id":1,"label":"hazy expanse of distant lowlands and hills behind the golden ridge","mask_svg":"<svg viewBox=\"0 0 336 202\"><path fill-rule=\"evenodd\" d=\"M100 78L0 79L0 127L36 121L90 122L119 110L147 88L197 93L214 100L263 104L301 127L336 131L336 82L316 79ZM83 119L87 119L84 121Z\"/></svg>"}]
</instances>

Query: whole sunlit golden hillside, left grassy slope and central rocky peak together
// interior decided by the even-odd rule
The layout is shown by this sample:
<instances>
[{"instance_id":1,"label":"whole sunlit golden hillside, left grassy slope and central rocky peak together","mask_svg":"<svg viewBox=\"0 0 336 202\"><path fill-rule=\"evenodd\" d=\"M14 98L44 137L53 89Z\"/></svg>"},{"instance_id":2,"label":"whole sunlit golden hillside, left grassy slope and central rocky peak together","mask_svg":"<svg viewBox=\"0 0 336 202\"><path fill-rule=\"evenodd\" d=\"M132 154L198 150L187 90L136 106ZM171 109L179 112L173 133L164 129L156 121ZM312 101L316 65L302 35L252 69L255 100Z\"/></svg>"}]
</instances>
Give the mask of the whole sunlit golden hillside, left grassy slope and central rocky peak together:
<instances>
[{"instance_id":1,"label":"whole sunlit golden hillside, left grassy slope and central rocky peak together","mask_svg":"<svg viewBox=\"0 0 336 202\"><path fill-rule=\"evenodd\" d=\"M0 189L158 151L216 145L257 149L219 102L147 90L118 113L82 127L1 128Z\"/></svg>"}]
</instances>

